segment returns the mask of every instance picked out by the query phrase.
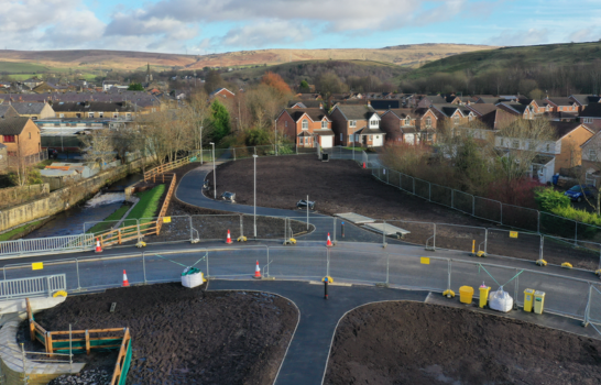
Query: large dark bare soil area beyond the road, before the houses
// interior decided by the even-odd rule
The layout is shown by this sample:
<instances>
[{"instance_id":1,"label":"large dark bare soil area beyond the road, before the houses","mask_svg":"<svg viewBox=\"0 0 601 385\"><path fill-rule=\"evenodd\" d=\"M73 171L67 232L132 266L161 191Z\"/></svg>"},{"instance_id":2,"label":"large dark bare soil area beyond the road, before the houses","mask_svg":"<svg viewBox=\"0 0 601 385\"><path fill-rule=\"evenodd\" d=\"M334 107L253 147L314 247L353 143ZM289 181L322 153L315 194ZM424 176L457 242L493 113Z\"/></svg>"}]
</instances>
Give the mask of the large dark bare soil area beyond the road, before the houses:
<instances>
[{"instance_id":1,"label":"large dark bare soil area beyond the road, before the houses","mask_svg":"<svg viewBox=\"0 0 601 385\"><path fill-rule=\"evenodd\" d=\"M242 160L218 166L218 189L236 191L240 204L253 198L253 162ZM208 176L210 178L210 174ZM480 220L376 180L370 169L362 169L353 161L320 162L313 155L260 157L256 160L256 205L294 209L299 199L309 195L318 212L335 215L356 212L374 219L384 219L393 226L409 230L406 241L414 244L433 244L437 223L436 246L471 252L487 238L484 229L470 229L442 223L492 229L488 234L488 253L536 261L539 258L540 238L520 232L510 238L505 228ZM560 265L570 262L575 267L595 270L599 252L576 249L572 244L545 240L544 258Z\"/></svg>"}]
</instances>

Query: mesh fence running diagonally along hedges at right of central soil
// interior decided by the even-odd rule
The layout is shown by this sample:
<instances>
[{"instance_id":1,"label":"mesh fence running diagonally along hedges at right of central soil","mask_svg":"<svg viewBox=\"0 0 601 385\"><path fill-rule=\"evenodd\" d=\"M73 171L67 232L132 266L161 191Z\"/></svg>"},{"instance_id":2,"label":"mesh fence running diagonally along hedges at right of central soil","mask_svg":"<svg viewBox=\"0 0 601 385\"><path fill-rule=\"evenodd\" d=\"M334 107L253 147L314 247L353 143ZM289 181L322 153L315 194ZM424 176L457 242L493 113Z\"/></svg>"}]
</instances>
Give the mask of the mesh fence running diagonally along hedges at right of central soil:
<instances>
[{"instance_id":1,"label":"mesh fence running diagonally along hedges at right of central soil","mask_svg":"<svg viewBox=\"0 0 601 385\"><path fill-rule=\"evenodd\" d=\"M381 182L409 193L427 201L439 204L469 216L506 227L549 234L573 242L597 240L601 228L536 209L503 204L477 197L446 186L437 185L398 173L386 167L372 168L372 175Z\"/></svg>"}]
</instances>

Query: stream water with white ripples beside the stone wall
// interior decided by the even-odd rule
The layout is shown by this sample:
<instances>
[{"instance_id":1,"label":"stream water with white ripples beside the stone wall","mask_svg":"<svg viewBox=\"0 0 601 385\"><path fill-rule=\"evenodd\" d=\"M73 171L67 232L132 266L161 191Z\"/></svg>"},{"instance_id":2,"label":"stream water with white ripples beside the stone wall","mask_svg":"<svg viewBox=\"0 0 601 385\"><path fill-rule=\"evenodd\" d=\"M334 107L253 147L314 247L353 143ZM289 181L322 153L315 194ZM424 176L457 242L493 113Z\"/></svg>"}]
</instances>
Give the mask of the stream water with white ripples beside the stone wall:
<instances>
[{"instance_id":1,"label":"stream water with white ripples beside the stone wall","mask_svg":"<svg viewBox=\"0 0 601 385\"><path fill-rule=\"evenodd\" d=\"M125 200L125 187L142 179L142 174L131 174L103 188L85 204L72 207L55 215L40 229L28 234L26 239L75 235L84 232L86 222L102 221L117 210ZM91 224L86 228L89 229Z\"/></svg>"}]
</instances>

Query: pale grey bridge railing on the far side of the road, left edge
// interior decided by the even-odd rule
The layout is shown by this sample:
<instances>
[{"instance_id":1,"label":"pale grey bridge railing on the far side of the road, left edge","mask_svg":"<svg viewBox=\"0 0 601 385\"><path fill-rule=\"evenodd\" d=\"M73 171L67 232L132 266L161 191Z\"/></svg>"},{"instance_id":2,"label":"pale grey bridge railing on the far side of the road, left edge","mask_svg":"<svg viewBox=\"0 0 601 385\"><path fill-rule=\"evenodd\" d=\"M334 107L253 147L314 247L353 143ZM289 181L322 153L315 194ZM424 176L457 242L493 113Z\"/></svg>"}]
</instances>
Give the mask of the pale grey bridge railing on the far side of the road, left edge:
<instances>
[{"instance_id":1,"label":"pale grey bridge railing on the far side of the road, left edge","mask_svg":"<svg viewBox=\"0 0 601 385\"><path fill-rule=\"evenodd\" d=\"M92 234L20 239L0 242L0 255L85 251L94 248Z\"/></svg>"}]
</instances>

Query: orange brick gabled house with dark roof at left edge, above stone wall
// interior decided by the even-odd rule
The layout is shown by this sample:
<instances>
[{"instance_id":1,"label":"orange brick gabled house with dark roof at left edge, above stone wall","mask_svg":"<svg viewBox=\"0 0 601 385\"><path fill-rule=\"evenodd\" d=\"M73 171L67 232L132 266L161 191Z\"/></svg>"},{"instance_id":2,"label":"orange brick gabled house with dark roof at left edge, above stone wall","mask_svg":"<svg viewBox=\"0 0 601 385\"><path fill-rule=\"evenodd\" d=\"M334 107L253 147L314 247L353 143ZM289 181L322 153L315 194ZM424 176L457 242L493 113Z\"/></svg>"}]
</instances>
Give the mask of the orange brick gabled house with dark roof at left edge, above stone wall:
<instances>
[{"instance_id":1,"label":"orange brick gabled house with dark roof at left edge, above stone wall","mask_svg":"<svg viewBox=\"0 0 601 385\"><path fill-rule=\"evenodd\" d=\"M11 156L29 156L42 151L40 129L30 118L0 119L0 143Z\"/></svg>"}]
</instances>

